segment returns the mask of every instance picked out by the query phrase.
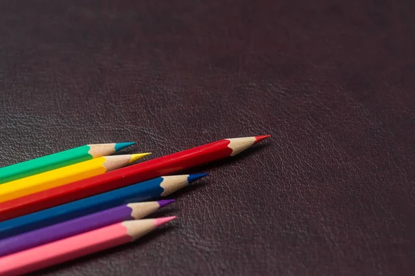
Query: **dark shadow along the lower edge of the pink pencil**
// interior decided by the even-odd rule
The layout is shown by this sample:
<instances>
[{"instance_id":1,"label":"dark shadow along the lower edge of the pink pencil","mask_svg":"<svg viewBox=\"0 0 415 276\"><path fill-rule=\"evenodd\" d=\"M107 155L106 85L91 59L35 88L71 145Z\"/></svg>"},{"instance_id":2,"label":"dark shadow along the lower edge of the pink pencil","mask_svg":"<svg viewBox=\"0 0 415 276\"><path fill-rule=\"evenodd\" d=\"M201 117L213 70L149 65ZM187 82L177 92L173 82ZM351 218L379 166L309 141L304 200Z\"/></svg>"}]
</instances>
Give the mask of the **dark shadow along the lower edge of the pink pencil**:
<instances>
[{"instance_id":1,"label":"dark shadow along the lower edge of the pink pencil","mask_svg":"<svg viewBox=\"0 0 415 276\"><path fill-rule=\"evenodd\" d=\"M172 230L176 228L175 226L172 225L167 225L164 226L163 228L160 229L156 229L153 232L145 235L144 237L141 237L140 239L138 239L135 242L130 242L128 244L122 244L120 246L116 246L114 248L108 248L106 250L102 250L100 252L97 253L93 253L91 255L86 255L84 257L80 257L78 259L73 259L71 261L68 262L64 262L62 264L57 264L56 266L50 266L48 268L43 268L41 270L37 270L33 273L28 273L25 275L28 276L39 276L39 275L44 275L44 274L59 274L59 270L63 270L65 268L68 268L70 266L74 266L74 265L82 265L82 264L86 264L88 262L93 261L93 259L99 259L101 257L106 257L107 255L111 255L111 254L119 254L122 253L122 251L124 250L130 250L133 248L136 248L137 246L145 246L146 244L149 244L149 242L152 242L153 239L156 239L158 237L163 237L164 235L167 235L167 232L169 230Z\"/></svg>"}]
</instances>

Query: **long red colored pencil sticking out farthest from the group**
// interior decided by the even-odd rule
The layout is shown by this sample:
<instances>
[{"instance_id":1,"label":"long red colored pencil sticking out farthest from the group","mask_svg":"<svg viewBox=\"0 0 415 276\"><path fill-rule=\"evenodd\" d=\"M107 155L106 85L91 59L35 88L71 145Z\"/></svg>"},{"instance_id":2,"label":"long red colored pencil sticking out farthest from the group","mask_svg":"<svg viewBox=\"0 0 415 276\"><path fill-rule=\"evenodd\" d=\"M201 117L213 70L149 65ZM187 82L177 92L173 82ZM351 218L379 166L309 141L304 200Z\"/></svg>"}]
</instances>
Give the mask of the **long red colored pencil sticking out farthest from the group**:
<instances>
[{"instance_id":1,"label":"long red colored pencil sticking out farthest from the group","mask_svg":"<svg viewBox=\"0 0 415 276\"><path fill-rule=\"evenodd\" d=\"M232 157L268 137L269 135L223 139L190 150L151 159L127 168L114 170L87 180L21 197L19 200L10 201L9 204L0 204L0 219L5 217L5 214L7 214L6 217L17 217L27 213L28 210L31 212L43 210L161 175L169 175L210 161Z\"/></svg>"}]
</instances>

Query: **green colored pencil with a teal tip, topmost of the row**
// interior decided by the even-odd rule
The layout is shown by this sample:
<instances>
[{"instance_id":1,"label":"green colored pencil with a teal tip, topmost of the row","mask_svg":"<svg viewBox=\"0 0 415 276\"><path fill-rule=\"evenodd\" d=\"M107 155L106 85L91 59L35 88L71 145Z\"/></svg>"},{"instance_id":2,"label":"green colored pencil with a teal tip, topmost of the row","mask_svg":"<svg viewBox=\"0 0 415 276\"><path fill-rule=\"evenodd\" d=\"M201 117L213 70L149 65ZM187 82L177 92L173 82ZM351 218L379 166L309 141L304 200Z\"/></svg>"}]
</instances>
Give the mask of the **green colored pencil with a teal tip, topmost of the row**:
<instances>
[{"instance_id":1,"label":"green colored pencil with a teal tip, topmost of the row","mask_svg":"<svg viewBox=\"0 0 415 276\"><path fill-rule=\"evenodd\" d=\"M134 142L125 142L117 144L92 144L64 150L46 155L36 159L24 161L11 166L0 168L0 184L10 182L16 179L37 175L38 173L48 170L55 170L82 161L90 160L97 157L111 155L118 150L127 148L136 144Z\"/></svg>"}]
</instances>

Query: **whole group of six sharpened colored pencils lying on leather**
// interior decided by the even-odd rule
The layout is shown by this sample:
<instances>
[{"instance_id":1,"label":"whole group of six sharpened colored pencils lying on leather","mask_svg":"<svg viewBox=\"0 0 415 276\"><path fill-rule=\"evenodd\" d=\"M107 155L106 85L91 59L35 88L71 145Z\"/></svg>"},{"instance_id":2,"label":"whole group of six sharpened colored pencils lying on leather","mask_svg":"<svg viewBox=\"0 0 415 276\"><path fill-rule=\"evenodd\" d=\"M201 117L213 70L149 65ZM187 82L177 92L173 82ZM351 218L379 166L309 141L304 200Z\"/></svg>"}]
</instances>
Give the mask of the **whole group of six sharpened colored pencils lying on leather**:
<instances>
[{"instance_id":1,"label":"whole group of six sharpened colored pencils lying on leather","mask_svg":"<svg viewBox=\"0 0 415 276\"><path fill-rule=\"evenodd\" d=\"M92 144L0 168L0 275L119 246L176 217L145 219L208 173L176 172L239 154L269 135L223 139L132 164L133 142ZM157 200L157 201L155 201Z\"/></svg>"}]
</instances>

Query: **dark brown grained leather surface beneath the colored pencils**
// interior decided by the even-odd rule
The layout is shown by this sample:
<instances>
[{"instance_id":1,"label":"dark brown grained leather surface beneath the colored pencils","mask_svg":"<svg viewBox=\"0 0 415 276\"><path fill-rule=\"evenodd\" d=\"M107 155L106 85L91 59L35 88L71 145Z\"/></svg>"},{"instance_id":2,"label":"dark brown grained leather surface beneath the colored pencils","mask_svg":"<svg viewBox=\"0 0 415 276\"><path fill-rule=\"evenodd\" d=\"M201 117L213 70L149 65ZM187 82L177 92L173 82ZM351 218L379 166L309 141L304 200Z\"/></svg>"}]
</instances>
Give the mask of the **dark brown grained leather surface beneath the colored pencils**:
<instances>
[{"instance_id":1,"label":"dark brown grained leather surface beneath the colored pencils","mask_svg":"<svg viewBox=\"0 0 415 276\"><path fill-rule=\"evenodd\" d=\"M0 2L0 165L273 135L35 275L414 275L415 1Z\"/></svg>"}]
</instances>

